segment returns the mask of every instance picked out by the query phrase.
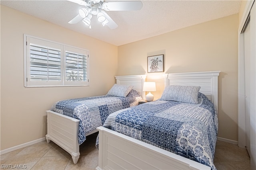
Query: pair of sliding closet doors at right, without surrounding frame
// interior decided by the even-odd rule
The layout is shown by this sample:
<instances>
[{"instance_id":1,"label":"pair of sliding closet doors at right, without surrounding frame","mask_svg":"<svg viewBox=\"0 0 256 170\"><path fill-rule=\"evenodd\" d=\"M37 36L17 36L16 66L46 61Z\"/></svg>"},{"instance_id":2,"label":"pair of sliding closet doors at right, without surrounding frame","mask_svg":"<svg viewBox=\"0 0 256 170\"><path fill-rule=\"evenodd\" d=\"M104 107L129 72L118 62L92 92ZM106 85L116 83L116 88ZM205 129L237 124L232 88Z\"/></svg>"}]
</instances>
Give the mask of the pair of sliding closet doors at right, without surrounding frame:
<instances>
[{"instance_id":1,"label":"pair of sliding closet doors at right, without surrounding frame","mask_svg":"<svg viewBox=\"0 0 256 170\"><path fill-rule=\"evenodd\" d=\"M251 169L256 169L256 4L254 2L244 31L244 78L246 149Z\"/></svg>"}]
</instances>

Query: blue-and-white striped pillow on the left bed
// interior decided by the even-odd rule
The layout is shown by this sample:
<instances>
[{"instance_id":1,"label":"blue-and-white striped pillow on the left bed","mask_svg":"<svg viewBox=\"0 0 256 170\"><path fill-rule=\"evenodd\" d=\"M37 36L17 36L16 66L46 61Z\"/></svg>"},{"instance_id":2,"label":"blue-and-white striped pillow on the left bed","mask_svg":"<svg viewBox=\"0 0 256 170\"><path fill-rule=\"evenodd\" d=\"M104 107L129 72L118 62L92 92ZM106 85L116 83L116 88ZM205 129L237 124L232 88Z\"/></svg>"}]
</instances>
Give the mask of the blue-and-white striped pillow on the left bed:
<instances>
[{"instance_id":1,"label":"blue-and-white striped pillow on the left bed","mask_svg":"<svg viewBox=\"0 0 256 170\"><path fill-rule=\"evenodd\" d=\"M121 85L121 84L114 84L112 88L108 91L109 96L117 96L117 97L126 97L130 91L132 90L133 86L130 85Z\"/></svg>"}]
</instances>

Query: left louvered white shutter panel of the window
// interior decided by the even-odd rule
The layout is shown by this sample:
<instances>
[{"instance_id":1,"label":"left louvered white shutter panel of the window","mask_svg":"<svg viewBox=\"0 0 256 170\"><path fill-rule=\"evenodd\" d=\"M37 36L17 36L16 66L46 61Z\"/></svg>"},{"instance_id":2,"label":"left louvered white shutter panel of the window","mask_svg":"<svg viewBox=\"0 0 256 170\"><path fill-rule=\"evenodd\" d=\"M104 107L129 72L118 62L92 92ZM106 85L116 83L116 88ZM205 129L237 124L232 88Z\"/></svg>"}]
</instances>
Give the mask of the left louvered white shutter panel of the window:
<instances>
[{"instance_id":1,"label":"left louvered white shutter panel of the window","mask_svg":"<svg viewBox=\"0 0 256 170\"><path fill-rule=\"evenodd\" d=\"M33 37L26 38L27 86L60 86L61 45Z\"/></svg>"}]
</instances>

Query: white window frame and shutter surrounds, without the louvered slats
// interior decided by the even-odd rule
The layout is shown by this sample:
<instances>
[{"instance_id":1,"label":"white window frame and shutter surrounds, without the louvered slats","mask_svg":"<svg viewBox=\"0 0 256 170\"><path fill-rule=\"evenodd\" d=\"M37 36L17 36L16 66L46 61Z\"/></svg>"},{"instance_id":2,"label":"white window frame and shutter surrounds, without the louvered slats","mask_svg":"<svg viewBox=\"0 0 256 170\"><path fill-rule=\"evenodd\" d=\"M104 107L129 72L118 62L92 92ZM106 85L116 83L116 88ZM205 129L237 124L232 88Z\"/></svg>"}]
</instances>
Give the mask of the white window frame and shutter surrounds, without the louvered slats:
<instances>
[{"instance_id":1,"label":"white window frame and shutter surrounds, without the louvered slats","mask_svg":"<svg viewBox=\"0 0 256 170\"><path fill-rule=\"evenodd\" d=\"M30 79L30 43L38 42L38 46L46 45L49 48L60 48L60 80L59 81L49 81L49 80L38 80L31 81ZM66 45L63 43L58 43L55 41L50 41L48 39L42 39L39 37L34 37L31 35L24 34L24 87L66 87L66 86L89 86L89 51L79 47L74 47ZM82 54L86 57L86 81L66 81L66 52L72 51L72 53ZM78 66L79 67L79 66ZM47 74L49 75L49 74Z\"/></svg>"}]
</instances>

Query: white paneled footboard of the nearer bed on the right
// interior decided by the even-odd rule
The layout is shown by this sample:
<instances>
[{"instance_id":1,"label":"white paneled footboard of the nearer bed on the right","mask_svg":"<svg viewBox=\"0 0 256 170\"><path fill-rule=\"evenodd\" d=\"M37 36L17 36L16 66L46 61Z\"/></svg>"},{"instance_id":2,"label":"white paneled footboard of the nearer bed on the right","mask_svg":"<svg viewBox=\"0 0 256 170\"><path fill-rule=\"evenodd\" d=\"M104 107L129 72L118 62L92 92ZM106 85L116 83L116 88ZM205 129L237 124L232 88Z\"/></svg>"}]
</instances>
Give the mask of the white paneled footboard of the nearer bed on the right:
<instances>
[{"instance_id":1,"label":"white paneled footboard of the nearer bed on the right","mask_svg":"<svg viewBox=\"0 0 256 170\"><path fill-rule=\"evenodd\" d=\"M105 169L210 170L209 166L133 139L105 127L99 130L99 163Z\"/></svg>"}]
</instances>

